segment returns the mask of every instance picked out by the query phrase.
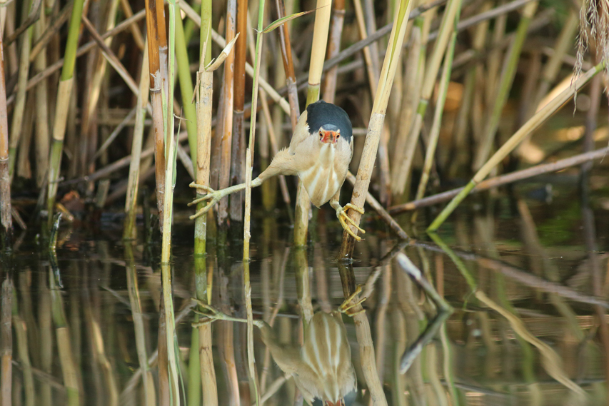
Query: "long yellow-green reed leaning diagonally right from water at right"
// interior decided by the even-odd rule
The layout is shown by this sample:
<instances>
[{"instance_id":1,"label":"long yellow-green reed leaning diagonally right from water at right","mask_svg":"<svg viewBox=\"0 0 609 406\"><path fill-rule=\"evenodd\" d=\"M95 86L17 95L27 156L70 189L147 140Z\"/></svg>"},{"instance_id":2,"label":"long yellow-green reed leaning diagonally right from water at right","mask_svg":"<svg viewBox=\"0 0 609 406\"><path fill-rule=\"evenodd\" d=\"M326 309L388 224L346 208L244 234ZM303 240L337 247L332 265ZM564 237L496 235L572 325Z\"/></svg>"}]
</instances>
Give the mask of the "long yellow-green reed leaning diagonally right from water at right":
<instances>
[{"instance_id":1,"label":"long yellow-green reed leaning diagonally right from water at right","mask_svg":"<svg viewBox=\"0 0 609 406\"><path fill-rule=\"evenodd\" d=\"M448 203L446 208L444 208L444 210L442 210L438 217L433 220L433 223L431 223L427 230L438 230L438 228L442 225L442 223L444 223L446 218L448 218L448 216L453 213L453 210L455 210L455 208L461 203L461 201L463 201L463 199L468 196L470 191L472 191L472 189L475 188L478 183L483 181L484 178L488 176L488 173L490 173L490 171L492 171L493 168L495 168L495 166L497 166L498 163L503 160L503 158L508 156L508 154L518 146L520 141L523 141L524 138L526 138L530 133L535 131L546 119L548 119L548 117L558 111L564 103L566 103L571 97L573 97L573 94L576 91L578 91L586 83L588 83L588 81L590 81L590 79L593 78L596 73L603 70L603 68L605 68L604 62L594 66L583 76L580 76L578 81L575 82L573 86L565 88L565 90L558 94L558 96L553 98L548 104L541 108L540 111L535 113L535 116L531 117L529 121L524 124L524 126L520 127L520 129L516 131L514 135L511 136L510 139L508 139L508 141L505 141L503 146L501 146L501 148L499 148L498 151L490 157L490 159L482 166L482 168L480 168L480 170L475 173L475 176L471 179L467 186L465 186L465 188L463 188L463 190L460 191L458 195L455 196L455 198L453 198L451 203Z\"/></svg>"}]
</instances>

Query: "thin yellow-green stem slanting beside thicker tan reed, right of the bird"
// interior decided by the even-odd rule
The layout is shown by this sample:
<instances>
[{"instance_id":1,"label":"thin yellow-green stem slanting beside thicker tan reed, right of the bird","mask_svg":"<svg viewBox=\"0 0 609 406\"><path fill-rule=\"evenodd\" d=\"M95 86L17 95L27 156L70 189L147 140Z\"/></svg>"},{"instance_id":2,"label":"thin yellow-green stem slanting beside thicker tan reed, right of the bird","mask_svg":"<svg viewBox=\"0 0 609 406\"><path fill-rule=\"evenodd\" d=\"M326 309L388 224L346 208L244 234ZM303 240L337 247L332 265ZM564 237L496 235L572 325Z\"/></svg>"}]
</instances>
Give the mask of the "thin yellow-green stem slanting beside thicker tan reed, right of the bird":
<instances>
[{"instance_id":1,"label":"thin yellow-green stem slanting beside thicker tan reed, right of the bird","mask_svg":"<svg viewBox=\"0 0 609 406\"><path fill-rule=\"evenodd\" d=\"M440 126L442 125L442 114L444 112L444 103L446 102L446 94L448 93L448 83L451 81L451 72L453 66L453 57L455 56L455 45L457 43L457 23L459 21L460 12L457 11L455 16L455 26L451 40L446 48L444 56L444 67L442 77L440 78L440 87L438 88L438 99L436 101L436 111L433 114L433 124L429 134L429 142L425 153L425 162L423 163L423 173L421 181L418 183L416 199L420 199L425 195L429 173L433 164L433 158L436 156L436 147L438 146L438 138L440 138Z\"/></svg>"}]
</instances>

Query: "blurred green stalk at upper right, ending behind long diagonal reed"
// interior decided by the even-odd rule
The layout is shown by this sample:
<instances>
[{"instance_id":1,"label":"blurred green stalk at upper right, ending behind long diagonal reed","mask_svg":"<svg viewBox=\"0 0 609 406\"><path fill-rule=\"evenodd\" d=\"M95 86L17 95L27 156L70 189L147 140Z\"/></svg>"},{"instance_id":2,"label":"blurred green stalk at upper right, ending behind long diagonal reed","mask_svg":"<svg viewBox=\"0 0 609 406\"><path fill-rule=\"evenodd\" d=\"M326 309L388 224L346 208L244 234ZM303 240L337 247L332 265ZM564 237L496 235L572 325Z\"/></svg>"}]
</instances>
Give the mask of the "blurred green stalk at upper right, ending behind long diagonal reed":
<instances>
[{"instance_id":1,"label":"blurred green stalk at upper right, ending behind long diagonal reed","mask_svg":"<svg viewBox=\"0 0 609 406\"><path fill-rule=\"evenodd\" d=\"M497 133L497 128L499 126L501 112L503 111L505 102L508 101L510 88L512 88L512 83L516 75L516 67L518 66L518 61L520 60L520 51L522 51L528 26L531 19L533 19L533 16L535 15L535 11L537 11L537 6L537 1L532 1L525 6L523 16L520 18L520 23L518 24L518 30L516 31L514 41L512 46L510 46L510 51L508 51L507 56L505 56L506 62L504 64L503 71L501 72L499 91L494 98L493 111L490 113L490 117L486 122L485 129L482 133L483 138L473 161L474 171L483 166L483 163L487 160L488 154L493 147L493 141L495 140L495 133Z\"/></svg>"}]
</instances>

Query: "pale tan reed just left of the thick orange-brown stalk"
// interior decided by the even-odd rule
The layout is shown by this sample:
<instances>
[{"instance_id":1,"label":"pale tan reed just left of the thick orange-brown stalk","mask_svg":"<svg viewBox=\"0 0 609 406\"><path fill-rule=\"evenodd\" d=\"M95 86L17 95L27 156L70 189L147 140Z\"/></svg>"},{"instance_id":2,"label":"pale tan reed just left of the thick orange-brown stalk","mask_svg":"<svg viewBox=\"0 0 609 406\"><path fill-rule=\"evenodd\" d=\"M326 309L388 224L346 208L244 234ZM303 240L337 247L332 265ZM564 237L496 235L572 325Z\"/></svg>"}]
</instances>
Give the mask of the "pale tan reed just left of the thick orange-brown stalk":
<instances>
[{"instance_id":1,"label":"pale tan reed just left of the thick orange-brown stalk","mask_svg":"<svg viewBox=\"0 0 609 406\"><path fill-rule=\"evenodd\" d=\"M146 39L146 42L148 39ZM149 60L148 44L145 44L144 58L141 62L139 80L139 93L136 101L136 123L134 126L134 139L131 142L131 163L129 163L129 181L127 183L127 196L125 199L125 223L123 230L124 240L136 238L136 210L139 188L139 171L141 161L142 139L144 138L144 121L146 120L146 106L149 96ZM148 198L148 196L144 196Z\"/></svg>"}]
</instances>

